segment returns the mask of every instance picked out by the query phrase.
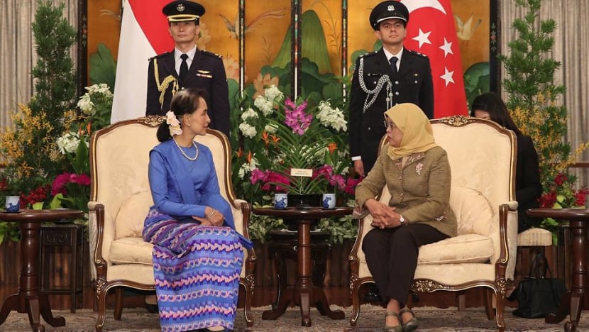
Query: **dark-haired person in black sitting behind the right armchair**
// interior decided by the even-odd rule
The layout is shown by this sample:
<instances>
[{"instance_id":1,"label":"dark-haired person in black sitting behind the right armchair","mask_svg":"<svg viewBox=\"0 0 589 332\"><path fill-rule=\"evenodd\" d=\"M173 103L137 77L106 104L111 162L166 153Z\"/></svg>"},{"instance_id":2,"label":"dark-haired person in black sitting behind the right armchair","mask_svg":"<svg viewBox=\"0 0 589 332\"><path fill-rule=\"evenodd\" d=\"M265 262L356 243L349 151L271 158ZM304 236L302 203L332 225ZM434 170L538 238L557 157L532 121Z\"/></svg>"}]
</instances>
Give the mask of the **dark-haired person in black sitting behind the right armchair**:
<instances>
[{"instance_id":1,"label":"dark-haired person in black sitting behind the right armchair","mask_svg":"<svg viewBox=\"0 0 589 332\"><path fill-rule=\"evenodd\" d=\"M500 96L488 92L475 97L470 106L470 116L485 118L513 131L517 137L517 162L515 170L515 198L517 199L517 232L539 226L540 220L527 215L527 209L539 207L542 194L538 153L532 138L515 126Z\"/></svg>"}]
</instances>

